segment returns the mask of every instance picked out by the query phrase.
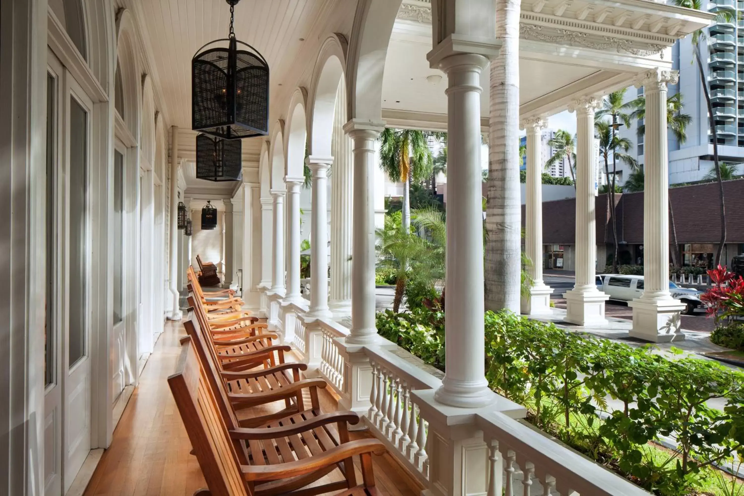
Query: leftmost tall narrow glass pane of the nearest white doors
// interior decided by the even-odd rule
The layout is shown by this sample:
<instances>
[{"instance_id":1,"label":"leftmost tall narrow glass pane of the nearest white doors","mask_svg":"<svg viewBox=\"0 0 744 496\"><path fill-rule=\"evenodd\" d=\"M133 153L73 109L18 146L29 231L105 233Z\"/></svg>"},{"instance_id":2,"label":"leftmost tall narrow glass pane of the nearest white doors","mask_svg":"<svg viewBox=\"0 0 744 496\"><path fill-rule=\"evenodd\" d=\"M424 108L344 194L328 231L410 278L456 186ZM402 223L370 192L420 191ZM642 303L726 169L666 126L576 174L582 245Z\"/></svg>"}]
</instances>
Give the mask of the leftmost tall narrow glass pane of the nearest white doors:
<instances>
[{"instance_id":1,"label":"leftmost tall narrow glass pane of the nearest white doors","mask_svg":"<svg viewBox=\"0 0 744 496\"><path fill-rule=\"evenodd\" d=\"M54 291L55 274L57 273L57 229L54 222L54 165L57 158L57 80L53 75L47 75L47 163L46 163L46 318L44 326L44 384L54 384L55 358L57 358L57 343L54 339Z\"/></svg>"}]
</instances>

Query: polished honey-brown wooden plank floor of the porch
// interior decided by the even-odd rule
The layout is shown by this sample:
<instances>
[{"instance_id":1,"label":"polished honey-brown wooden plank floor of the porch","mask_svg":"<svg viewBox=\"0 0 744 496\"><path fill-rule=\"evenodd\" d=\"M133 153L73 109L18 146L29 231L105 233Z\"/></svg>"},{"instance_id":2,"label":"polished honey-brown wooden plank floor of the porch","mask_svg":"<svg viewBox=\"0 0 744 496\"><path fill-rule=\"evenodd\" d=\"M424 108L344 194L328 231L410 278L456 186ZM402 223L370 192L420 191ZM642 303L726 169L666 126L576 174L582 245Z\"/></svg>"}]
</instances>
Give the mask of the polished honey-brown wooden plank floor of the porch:
<instances>
[{"instance_id":1,"label":"polished honey-brown wooden plank floor of the porch","mask_svg":"<svg viewBox=\"0 0 744 496\"><path fill-rule=\"evenodd\" d=\"M191 445L166 381L176 369L182 335L181 323L166 324L85 496L191 496L205 487L199 463L189 454ZM328 393L322 403L327 411L337 405ZM353 433L357 439L369 436L364 431ZM375 456L373 465L382 496L420 495L423 487L391 454ZM318 483L340 478L330 474ZM362 480L361 473L358 480Z\"/></svg>"}]
</instances>

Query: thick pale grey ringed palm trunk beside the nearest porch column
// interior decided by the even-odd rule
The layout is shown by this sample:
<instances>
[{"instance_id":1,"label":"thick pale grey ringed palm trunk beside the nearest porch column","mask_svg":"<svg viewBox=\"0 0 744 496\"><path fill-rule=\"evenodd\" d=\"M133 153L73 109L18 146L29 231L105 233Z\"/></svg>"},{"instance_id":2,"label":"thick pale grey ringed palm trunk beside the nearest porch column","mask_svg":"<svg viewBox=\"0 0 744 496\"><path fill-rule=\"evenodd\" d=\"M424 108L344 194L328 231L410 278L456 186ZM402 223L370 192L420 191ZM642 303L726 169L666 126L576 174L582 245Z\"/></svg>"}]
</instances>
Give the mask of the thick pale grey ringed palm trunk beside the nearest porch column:
<instances>
[{"instance_id":1,"label":"thick pale grey ringed palm trunk beside the nearest porch column","mask_svg":"<svg viewBox=\"0 0 744 496\"><path fill-rule=\"evenodd\" d=\"M498 0L496 36L501 51L491 61L488 193L486 210L486 309L519 313L521 206L519 201L519 6Z\"/></svg>"}]
</instances>

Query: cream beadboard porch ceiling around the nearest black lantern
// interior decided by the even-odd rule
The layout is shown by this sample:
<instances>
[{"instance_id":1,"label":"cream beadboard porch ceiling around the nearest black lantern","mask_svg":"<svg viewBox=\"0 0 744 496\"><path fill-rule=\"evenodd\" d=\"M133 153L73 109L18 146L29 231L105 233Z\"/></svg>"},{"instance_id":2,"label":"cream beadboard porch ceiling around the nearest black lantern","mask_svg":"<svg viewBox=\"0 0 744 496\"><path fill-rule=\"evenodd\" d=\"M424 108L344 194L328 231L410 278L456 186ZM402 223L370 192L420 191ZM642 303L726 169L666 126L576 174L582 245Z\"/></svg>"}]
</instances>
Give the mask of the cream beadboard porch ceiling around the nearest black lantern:
<instances>
[{"instance_id":1,"label":"cream beadboard porch ceiling around the nearest black lantern","mask_svg":"<svg viewBox=\"0 0 744 496\"><path fill-rule=\"evenodd\" d=\"M225 0L135 1L167 117L172 125L190 129L191 58L205 43L228 36L230 7ZM241 0L236 5L237 39L269 62L270 125L282 117L296 86L310 86L324 37L350 31L355 7L353 0Z\"/></svg>"}]
</instances>

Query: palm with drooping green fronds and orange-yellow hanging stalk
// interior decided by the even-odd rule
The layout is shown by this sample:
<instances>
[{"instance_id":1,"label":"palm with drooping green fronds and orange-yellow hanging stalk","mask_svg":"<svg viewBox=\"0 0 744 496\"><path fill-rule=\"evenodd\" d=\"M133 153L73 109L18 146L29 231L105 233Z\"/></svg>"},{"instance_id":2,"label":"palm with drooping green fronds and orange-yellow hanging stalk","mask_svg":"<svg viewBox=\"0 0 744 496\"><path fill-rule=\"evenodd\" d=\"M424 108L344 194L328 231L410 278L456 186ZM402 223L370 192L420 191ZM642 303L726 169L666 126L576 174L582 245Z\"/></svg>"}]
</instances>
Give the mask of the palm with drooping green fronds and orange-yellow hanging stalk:
<instances>
[{"instance_id":1,"label":"palm with drooping green fronds and orange-yellow hanging stalk","mask_svg":"<svg viewBox=\"0 0 744 496\"><path fill-rule=\"evenodd\" d=\"M411 180L424 181L432 174L433 158L429 149L431 132L417 129L391 129L386 127L380 134L380 167L391 181L403 183L404 233L411 230Z\"/></svg>"}]
</instances>

